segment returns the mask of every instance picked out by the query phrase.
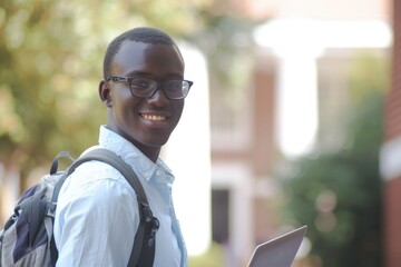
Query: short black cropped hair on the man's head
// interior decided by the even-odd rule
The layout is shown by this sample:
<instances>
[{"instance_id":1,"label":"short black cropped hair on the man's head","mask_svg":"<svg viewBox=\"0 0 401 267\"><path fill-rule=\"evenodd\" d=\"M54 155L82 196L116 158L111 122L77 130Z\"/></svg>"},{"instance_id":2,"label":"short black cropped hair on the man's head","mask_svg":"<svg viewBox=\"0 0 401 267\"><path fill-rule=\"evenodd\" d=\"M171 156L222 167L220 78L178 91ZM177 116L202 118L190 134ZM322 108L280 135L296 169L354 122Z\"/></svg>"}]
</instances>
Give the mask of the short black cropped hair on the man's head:
<instances>
[{"instance_id":1,"label":"short black cropped hair on the man's head","mask_svg":"<svg viewBox=\"0 0 401 267\"><path fill-rule=\"evenodd\" d=\"M114 39L110 44L107 47L105 59L104 59L104 78L107 79L111 72L111 62L120 49L123 42L125 41L137 41L143 43L151 43L151 44L167 44L175 46L179 52L179 49L173 38L166 32L147 27L139 27L128 30L116 39ZM180 56L180 52L179 52Z\"/></svg>"}]
</instances>

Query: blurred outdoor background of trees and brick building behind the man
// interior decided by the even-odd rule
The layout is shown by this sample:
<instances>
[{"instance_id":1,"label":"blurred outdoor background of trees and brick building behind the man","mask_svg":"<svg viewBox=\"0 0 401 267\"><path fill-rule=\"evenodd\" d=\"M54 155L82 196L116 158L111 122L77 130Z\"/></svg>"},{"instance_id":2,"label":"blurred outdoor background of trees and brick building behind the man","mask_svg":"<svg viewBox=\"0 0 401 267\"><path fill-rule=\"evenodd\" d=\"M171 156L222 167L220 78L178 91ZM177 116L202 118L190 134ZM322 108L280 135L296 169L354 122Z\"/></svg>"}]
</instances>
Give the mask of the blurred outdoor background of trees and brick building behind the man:
<instances>
[{"instance_id":1,"label":"blurred outdoor background of trees and brick building behind the man","mask_svg":"<svg viewBox=\"0 0 401 267\"><path fill-rule=\"evenodd\" d=\"M190 267L246 266L307 225L296 267L401 266L397 0L1 0L0 222L60 150L97 144L107 44L179 43L195 81L163 150ZM398 29L398 31L397 31Z\"/></svg>"}]
</instances>

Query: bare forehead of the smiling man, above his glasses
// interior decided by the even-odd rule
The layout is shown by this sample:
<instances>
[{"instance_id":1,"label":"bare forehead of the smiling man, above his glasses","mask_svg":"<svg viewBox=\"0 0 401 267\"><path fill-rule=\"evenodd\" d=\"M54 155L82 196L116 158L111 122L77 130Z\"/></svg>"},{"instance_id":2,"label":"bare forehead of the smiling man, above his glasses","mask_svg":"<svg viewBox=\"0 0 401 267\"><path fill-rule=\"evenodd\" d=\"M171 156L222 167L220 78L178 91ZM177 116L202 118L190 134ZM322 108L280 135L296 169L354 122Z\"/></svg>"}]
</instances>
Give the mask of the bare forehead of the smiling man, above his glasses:
<instances>
[{"instance_id":1,"label":"bare forehead of the smiling man, above his glasses","mask_svg":"<svg viewBox=\"0 0 401 267\"><path fill-rule=\"evenodd\" d=\"M111 71L183 76L184 61L176 46L125 41L111 62Z\"/></svg>"}]
</instances>

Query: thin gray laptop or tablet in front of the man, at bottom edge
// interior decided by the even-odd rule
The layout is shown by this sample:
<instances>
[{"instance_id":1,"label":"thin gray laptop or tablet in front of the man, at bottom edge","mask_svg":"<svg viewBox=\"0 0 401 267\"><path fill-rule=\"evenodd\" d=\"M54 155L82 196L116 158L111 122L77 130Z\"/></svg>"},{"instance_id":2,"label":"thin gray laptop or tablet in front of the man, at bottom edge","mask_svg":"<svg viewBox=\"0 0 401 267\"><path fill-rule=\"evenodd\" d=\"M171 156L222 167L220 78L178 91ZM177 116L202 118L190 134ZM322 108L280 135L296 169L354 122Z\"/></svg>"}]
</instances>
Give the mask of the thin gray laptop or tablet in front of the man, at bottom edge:
<instances>
[{"instance_id":1,"label":"thin gray laptop or tablet in front of the man, at bottom edge","mask_svg":"<svg viewBox=\"0 0 401 267\"><path fill-rule=\"evenodd\" d=\"M291 267L306 234L306 226L258 245L248 267Z\"/></svg>"}]
</instances>

